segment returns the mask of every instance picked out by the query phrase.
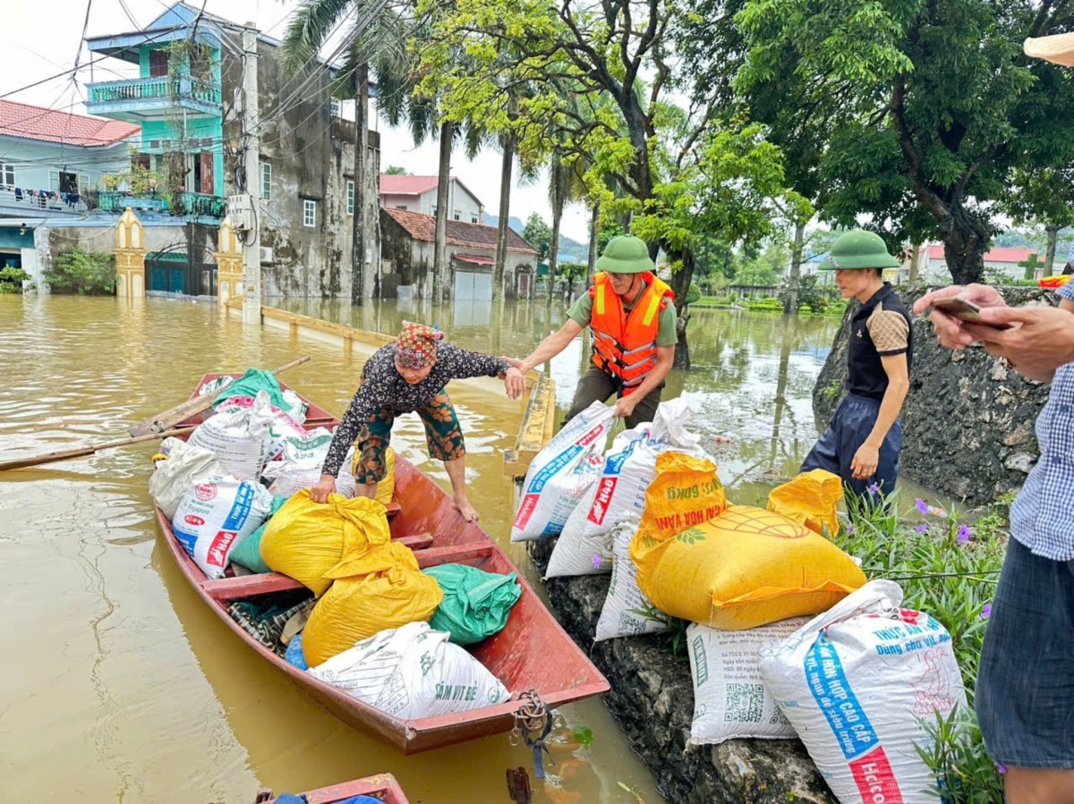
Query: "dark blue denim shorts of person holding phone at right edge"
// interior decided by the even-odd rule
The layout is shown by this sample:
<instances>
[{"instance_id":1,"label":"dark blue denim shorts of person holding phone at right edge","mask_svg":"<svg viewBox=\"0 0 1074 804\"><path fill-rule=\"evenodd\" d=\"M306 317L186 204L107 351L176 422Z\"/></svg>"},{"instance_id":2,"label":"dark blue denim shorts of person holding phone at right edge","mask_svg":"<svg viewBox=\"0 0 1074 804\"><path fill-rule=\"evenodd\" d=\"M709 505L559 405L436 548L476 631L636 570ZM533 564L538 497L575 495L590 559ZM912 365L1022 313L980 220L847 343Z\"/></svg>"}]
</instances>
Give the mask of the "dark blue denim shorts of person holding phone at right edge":
<instances>
[{"instance_id":1,"label":"dark blue denim shorts of person holding phone at right edge","mask_svg":"<svg viewBox=\"0 0 1074 804\"><path fill-rule=\"evenodd\" d=\"M1074 769L1074 561L1007 543L975 704L992 759Z\"/></svg>"}]
</instances>

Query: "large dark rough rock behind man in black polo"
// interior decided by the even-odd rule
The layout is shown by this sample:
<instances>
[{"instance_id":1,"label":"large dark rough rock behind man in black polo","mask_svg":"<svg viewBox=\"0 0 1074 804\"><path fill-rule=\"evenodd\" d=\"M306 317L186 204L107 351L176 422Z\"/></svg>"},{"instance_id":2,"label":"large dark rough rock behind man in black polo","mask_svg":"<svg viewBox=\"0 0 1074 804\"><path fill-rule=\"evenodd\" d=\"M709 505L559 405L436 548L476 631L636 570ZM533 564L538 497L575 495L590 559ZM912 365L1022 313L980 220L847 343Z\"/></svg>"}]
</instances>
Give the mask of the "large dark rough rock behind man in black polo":
<instances>
[{"instance_id":1,"label":"large dark rough rock behind man in black polo","mask_svg":"<svg viewBox=\"0 0 1074 804\"><path fill-rule=\"evenodd\" d=\"M899 289L908 306L924 292ZM1035 288L1006 289L1003 295L1013 306L1058 303L1054 292ZM846 393L850 309L813 389L813 412L822 427ZM1033 422L1048 388L979 346L961 352L941 347L928 319L914 317L900 474L971 505L1017 491L1040 455Z\"/></svg>"}]
</instances>

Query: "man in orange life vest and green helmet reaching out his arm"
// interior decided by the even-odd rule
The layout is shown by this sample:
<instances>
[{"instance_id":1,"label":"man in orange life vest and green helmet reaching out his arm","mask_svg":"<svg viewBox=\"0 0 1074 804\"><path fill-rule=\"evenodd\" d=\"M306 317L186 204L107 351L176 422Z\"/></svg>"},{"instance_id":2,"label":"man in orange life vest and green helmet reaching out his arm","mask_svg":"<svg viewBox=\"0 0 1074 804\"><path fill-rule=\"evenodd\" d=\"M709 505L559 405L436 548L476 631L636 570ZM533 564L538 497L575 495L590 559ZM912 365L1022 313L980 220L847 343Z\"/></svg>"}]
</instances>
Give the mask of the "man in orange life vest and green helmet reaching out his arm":
<instances>
[{"instance_id":1,"label":"man in orange life vest and green helmet reaching out his arm","mask_svg":"<svg viewBox=\"0 0 1074 804\"><path fill-rule=\"evenodd\" d=\"M593 287L567 311L567 323L514 365L525 372L562 352L589 326L593 366L582 375L565 422L614 394L615 415L634 427L653 421L674 360L674 294L655 274L640 237L612 237L597 260Z\"/></svg>"}]
</instances>

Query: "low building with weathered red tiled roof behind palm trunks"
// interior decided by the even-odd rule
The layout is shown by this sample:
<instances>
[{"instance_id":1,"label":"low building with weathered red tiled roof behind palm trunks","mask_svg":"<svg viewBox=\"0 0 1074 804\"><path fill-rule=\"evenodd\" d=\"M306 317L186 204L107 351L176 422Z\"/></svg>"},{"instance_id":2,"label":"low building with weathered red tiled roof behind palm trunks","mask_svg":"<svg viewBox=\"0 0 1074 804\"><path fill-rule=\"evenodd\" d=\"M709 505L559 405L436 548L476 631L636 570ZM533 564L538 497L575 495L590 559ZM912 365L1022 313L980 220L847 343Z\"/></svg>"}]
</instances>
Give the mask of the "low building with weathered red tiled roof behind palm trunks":
<instances>
[{"instance_id":1,"label":"low building with weathered red tiled roof behind palm trunks","mask_svg":"<svg viewBox=\"0 0 1074 804\"><path fill-rule=\"evenodd\" d=\"M380 210L383 238L384 295L396 295L398 287L411 288L415 296L432 294L436 218L407 209ZM460 220L448 221L445 286L452 298L475 302L493 296L496 263L496 228ZM507 233L504 297L531 298L536 278L537 249L513 230Z\"/></svg>"}]
</instances>

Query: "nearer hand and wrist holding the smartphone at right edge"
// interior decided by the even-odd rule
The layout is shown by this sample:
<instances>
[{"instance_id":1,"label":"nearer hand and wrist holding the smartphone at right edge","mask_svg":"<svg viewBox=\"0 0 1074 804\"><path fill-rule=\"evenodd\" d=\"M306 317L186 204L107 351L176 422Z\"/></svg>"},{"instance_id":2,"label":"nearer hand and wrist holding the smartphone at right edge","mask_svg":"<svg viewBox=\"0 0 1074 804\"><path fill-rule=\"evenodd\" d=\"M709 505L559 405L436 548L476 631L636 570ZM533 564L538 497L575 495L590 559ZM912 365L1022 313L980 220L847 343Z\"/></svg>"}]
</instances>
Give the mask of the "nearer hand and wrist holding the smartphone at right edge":
<instances>
[{"instance_id":1,"label":"nearer hand and wrist holding the smartphone at right edge","mask_svg":"<svg viewBox=\"0 0 1074 804\"><path fill-rule=\"evenodd\" d=\"M1074 289L1072 289L1074 290ZM966 331L984 343L989 354L1004 357L1024 377L1051 382L1056 369L1074 361L1074 301L1061 298L1059 307L1031 305L985 309L981 318L1008 330L967 324Z\"/></svg>"}]
</instances>

